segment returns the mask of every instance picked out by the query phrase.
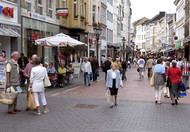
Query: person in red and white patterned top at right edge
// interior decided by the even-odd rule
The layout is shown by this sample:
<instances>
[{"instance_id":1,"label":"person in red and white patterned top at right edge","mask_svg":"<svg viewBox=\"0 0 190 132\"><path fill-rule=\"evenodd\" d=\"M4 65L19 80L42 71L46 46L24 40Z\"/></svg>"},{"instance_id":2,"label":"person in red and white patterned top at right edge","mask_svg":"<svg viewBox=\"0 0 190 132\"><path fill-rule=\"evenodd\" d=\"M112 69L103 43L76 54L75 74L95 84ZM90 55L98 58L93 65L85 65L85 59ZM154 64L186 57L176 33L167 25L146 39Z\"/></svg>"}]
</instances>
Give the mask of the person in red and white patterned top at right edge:
<instances>
[{"instance_id":1,"label":"person in red and white patterned top at right edge","mask_svg":"<svg viewBox=\"0 0 190 132\"><path fill-rule=\"evenodd\" d=\"M181 64L181 70L182 70L182 81L184 85L189 88L189 70L190 70L190 64L187 61L186 58L184 58L184 62Z\"/></svg>"}]
</instances>

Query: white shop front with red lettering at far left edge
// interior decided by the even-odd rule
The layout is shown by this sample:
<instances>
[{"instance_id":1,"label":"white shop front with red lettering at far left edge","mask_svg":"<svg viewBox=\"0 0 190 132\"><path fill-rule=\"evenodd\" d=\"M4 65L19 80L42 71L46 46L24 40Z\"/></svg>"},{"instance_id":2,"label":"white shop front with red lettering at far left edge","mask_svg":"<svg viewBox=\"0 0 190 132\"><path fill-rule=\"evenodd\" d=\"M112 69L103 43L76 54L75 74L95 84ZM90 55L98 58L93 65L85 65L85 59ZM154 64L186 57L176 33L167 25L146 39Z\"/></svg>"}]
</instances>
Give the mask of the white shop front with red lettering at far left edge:
<instances>
[{"instance_id":1,"label":"white shop front with red lettering at far left edge","mask_svg":"<svg viewBox=\"0 0 190 132\"><path fill-rule=\"evenodd\" d=\"M13 2L0 1L0 49L6 51L10 59L12 51L20 52L19 5Z\"/></svg>"}]
</instances>

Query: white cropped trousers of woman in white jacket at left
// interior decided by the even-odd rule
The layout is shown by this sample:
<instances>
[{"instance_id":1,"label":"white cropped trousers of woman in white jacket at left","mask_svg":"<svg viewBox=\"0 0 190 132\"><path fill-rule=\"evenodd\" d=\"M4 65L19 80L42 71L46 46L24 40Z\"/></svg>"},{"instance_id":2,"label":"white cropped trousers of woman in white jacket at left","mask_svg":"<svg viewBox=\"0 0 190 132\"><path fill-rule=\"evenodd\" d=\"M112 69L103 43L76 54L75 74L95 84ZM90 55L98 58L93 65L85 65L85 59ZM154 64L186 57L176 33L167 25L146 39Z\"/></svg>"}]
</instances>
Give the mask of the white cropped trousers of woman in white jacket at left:
<instances>
[{"instance_id":1,"label":"white cropped trousers of woman in white jacket at left","mask_svg":"<svg viewBox=\"0 0 190 132\"><path fill-rule=\"evenodd\" d=\"M36 106L40 106L39 100L38 100L38 96L40 95L40 99L42 102L42 105L45 106L47 105L47 101L46 101L46 97L45 97L45 93L44 92L34 92L34 99L35 99L35 103Z\"/></svg>"}]
</instances>

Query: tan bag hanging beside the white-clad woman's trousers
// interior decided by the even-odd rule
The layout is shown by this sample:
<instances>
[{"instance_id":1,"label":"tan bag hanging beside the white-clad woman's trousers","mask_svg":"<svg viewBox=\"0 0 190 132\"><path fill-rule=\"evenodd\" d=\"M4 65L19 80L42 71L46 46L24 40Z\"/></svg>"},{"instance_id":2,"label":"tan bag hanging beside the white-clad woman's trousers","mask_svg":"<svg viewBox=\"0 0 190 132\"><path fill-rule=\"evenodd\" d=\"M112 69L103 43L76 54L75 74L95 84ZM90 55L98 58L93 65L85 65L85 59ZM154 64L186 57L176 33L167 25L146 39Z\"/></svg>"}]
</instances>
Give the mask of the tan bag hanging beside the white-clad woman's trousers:
<instances>
[{"instance_id":1,"label":"tan bag hanging beside the white-clad woman's trousers","mask_svg":"<svg viewBox=\"0 0 190 132\"><path fill-rule=\"evenodd\" d=\"M36 109L36 103L35 103L35 99L34 99L34 94L32 92L29 92L29 94L28 94L26 108L28 108L30 110Z\"/></svg>"}]
</instances>

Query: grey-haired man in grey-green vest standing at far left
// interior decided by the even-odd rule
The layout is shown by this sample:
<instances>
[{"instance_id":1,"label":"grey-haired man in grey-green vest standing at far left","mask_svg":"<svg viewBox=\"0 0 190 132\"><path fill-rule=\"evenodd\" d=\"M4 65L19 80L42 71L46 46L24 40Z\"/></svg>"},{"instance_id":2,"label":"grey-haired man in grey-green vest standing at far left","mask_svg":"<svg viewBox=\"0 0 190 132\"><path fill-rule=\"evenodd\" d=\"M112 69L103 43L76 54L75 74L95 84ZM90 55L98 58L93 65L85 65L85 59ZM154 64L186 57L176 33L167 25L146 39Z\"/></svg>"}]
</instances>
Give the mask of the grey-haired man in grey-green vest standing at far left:
<instances>
[{"instance_id":1,"label":"grey-haired man in grey-green vest standing at far left","mask_svg":"<svg viewBox=\"0 0 190 132\"><path fill-rule=\"evenodd\" d=\"M20 68L19 64L17 63L19 59L19 53L14 51L11 53L11 60L8 61L6 65L6 72L7 72L7 88L12 86L14 90L16 87L20 85ZM8 105L8 113L9 114L16 114L17 112L21 112L21 110L17 109L17 97L15 98L13 104Z\"/></svg>"}]
</instances>

